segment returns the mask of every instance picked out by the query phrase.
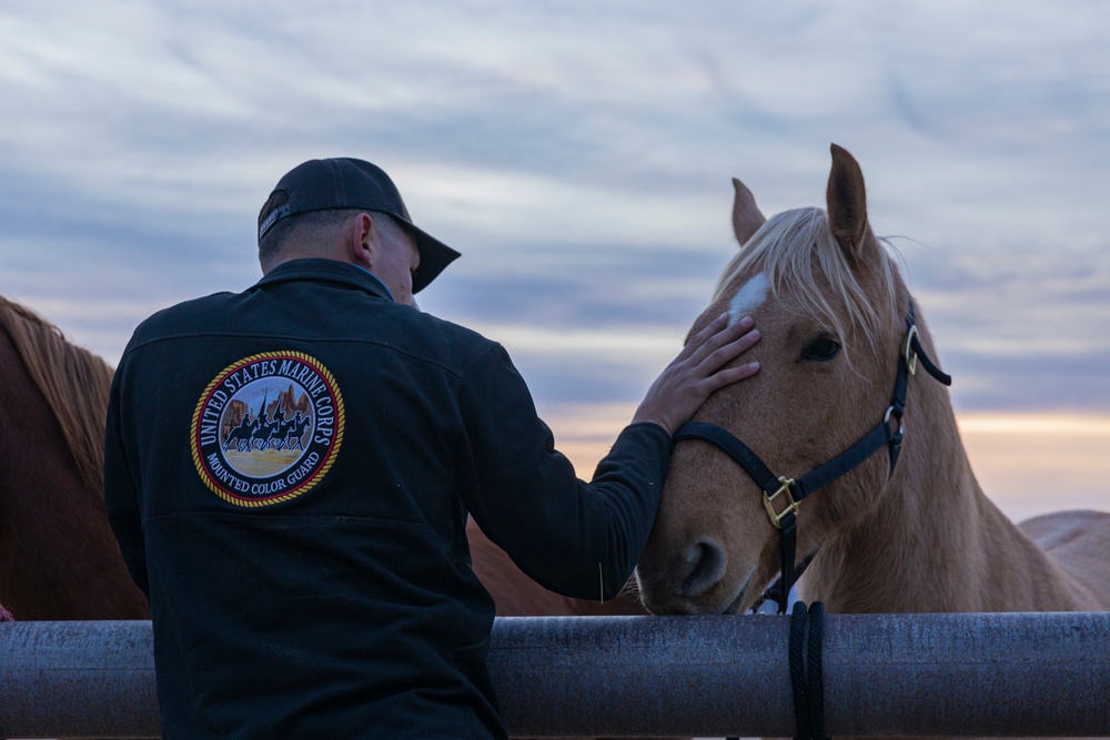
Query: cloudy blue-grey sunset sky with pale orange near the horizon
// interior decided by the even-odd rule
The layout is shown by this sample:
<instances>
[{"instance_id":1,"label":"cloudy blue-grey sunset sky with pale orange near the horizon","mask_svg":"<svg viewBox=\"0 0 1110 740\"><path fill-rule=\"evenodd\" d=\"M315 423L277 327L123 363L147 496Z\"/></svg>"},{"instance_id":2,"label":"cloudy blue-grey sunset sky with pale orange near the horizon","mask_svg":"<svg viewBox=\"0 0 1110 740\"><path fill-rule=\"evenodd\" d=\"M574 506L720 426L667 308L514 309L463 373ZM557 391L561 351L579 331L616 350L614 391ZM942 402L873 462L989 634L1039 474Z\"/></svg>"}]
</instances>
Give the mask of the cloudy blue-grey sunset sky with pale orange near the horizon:
<instances>
[{"instance_id":1,"label":"cloudy blue-grey sunset sky with pale orange near the horizon","mask_svg":"<svg viewBox=\"0 0 1110 740\"><path fill-rule=\"evenodd\" d=\"M463 252L421 307L502 342L583 476L736 249L860 162L1013 518L1110 510L1110 6L0 4L0 293L118 362L260 275L297 163L383 166Z\"/></svg>"}]
</instances>

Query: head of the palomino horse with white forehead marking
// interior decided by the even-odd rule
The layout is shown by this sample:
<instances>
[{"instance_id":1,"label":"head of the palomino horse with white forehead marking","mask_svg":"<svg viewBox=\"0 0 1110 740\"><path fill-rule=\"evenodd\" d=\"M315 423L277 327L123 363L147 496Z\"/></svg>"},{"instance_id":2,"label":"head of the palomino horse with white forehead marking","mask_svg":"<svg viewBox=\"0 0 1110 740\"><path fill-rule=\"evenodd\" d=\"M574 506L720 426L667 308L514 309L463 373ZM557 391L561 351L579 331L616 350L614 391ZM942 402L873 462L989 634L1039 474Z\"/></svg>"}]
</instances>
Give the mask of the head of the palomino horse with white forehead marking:
<instances>
[{"instance_id":1,"label":"head of the palomino horse with white forehead marking","mask_svg":"<svg viewBox=\"0 0 1110 740\"><path fill-rule=\"evenodd\" d=\"M694 420L743 440L775 476L800 478L882 423L907 341L909 294L871 232L864 176L844 149L833 145L825 211L797 209L768 221L748 189L734 185L740 250L690 335L726 311L734 321L751 315L763 338L744 362L758 359L760 371L715 393ZM920 341L931 346L924 327ZM912 386L920 383L909 385L910 395L919 393ZM889 424L899 439L911 406ZM797 561L866 520L890 476L888 456L869 454L799 501ZM781 549L771 511L783 503L766 504L764 490L718 446L675 445L637 568L648 609L738 612L759 598L780 570Z\"/></svg>"}]
</instances>

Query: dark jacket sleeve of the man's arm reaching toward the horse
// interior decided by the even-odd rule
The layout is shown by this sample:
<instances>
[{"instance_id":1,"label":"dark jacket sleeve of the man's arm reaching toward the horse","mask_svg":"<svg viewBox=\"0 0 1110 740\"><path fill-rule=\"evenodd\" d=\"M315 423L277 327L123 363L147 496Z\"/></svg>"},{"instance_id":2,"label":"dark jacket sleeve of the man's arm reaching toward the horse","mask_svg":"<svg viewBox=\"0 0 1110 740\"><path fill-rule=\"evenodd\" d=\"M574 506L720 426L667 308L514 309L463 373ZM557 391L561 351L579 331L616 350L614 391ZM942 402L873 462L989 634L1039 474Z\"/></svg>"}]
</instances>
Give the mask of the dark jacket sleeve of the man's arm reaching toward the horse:
<instances>
[{"instance_id":1,"label":"dark jacket sleeve of the man's arm reaching toward the horse","mask_svg":"<svg viewBox=\"0 0 1110 740\"><path fill-rule=\"evenodd\" d=\"M545 588L616 596L655 520L670 455L666 430L626 427L594 478L579 480L500 345L466 373L460 408L471 466L461 491L482 530Z\"/></svg>"}]
</instances>

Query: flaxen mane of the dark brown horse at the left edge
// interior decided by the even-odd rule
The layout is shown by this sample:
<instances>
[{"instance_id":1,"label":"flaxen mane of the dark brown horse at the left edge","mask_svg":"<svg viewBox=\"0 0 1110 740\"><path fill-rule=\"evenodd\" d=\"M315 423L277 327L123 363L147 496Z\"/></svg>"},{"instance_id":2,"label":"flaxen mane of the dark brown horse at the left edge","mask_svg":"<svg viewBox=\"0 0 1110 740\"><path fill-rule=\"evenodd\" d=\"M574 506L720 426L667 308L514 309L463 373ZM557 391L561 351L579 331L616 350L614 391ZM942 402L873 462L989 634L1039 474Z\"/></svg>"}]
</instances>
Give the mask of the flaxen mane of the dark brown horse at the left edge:
<instances>
[{"instance_id":1,"label":"flaxen mane of the dark brown horse at the left edge","mask_svg":"<svg viewBox=\"0 0 1110 740\"><path fill-rule=\"evenodd\" d=\"M112 367L65 341L61 330L31 310L0 296L0 328L8 333L23 365L61 426L82 479L104 489L104 422Z\"/></svg>"}]
</instances>

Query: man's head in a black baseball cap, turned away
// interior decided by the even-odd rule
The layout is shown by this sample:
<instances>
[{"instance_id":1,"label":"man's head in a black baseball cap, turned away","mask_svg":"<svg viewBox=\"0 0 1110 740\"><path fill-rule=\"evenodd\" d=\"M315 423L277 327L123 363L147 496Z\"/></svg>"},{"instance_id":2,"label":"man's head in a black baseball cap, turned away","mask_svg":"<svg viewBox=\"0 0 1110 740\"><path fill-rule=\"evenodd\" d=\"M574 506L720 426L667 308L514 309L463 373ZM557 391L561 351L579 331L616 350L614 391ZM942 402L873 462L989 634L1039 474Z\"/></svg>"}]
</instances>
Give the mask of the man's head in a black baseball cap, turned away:
<instances>
[{"instance_id":1,"label":"man's head in a black baseball cap, turned away","mask_svg":"<svg viewBox=\"0 0 1110 740\"><path fill-rule=\"evenodd\" d=\"M417 229L389 175L362 160L310 160L297 165L281 179L259 213L263 272L299 256L323 256L361 264L394 291L380 272L405 262L408 247L418 262L411 273L412 293L458 256ZM396 260L391 262L391 254ZM398 290L407 293L406 286Z\"/></svg>"}]
</instances>

